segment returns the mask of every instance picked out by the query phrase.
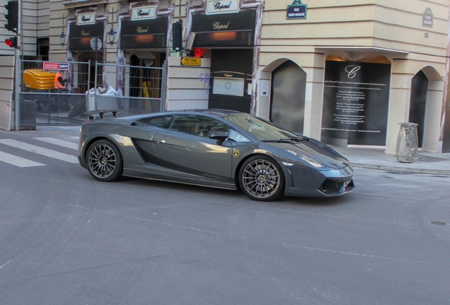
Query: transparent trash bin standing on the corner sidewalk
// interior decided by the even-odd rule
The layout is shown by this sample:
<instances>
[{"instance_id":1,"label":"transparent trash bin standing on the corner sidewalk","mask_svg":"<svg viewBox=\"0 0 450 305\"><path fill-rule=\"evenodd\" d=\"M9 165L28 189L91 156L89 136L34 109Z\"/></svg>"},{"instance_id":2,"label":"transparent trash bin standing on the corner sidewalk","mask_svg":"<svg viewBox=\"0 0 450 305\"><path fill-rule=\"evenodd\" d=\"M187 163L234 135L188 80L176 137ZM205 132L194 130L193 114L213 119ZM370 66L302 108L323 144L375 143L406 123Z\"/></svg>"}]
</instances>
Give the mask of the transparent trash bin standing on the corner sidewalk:
<instances>
[{"instance_id":1,"label":"transparent trash bin standing on the corner sidewalk","mask_svg":"<svg viewBox=\"0 0 450 305\"><path fill-rule=\"evenodd\" d=\"M399 123L400 131L398 131L396 157L398 162L411 163L417 157L417 124L415 123Z\"/></svg>"}]
</instances>

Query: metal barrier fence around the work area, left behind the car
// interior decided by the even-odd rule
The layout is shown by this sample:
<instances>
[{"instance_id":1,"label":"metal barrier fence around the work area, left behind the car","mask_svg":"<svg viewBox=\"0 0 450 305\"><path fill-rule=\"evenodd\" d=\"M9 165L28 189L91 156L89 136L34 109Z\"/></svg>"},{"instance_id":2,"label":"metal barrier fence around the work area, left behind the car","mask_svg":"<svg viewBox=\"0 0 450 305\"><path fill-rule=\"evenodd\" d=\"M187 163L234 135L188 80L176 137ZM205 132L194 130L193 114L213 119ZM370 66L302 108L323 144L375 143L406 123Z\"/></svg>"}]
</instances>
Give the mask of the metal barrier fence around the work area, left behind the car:
<instances>
[{"instance_id":1,"label":"metal barrier fence around the work area, left behind the car","mask_svg":"<svg viewBox=\"0 0 450 305\"><path fill-rule=\"evenodd\" d=\"M44 63L22 62L21 126L79 125L96 110L126 115L163 109L164 68L69 62L67 90L57 90L57 71L44 70Z\"/></svg>"}]
</instances>

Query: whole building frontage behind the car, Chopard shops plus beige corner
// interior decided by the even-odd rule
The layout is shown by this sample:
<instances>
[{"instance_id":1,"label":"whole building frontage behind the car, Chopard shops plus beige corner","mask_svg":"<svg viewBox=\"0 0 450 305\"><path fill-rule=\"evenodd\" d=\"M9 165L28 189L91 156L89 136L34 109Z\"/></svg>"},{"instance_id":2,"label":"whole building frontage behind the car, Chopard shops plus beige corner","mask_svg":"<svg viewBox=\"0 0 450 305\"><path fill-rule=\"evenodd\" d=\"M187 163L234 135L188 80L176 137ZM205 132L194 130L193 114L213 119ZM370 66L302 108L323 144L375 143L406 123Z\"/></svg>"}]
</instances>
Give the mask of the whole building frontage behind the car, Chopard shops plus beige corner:
<instances>
[{"instance_id":1,"label":"whole building frontage behind the car, Chopard shops plus beige corner","mask_svg":"<svg viewBox=\"0 0 450 305\"><path fill-rule=\"evenodd\" d=\"M51 61L89 62L92 70L98 61L104 66L90 75L125 96L142 95L135 83L154 79L143 80L145 67L163 68L165 81L147 96L163 98L164 109L236 109L325 143L390 153L399 124L410 121L422 150L446 152L449 3L37 1L30 13L37 27L27 37L36 44L25 49L45 59L47 41ZM178 34L181 49L173 48ZM97 51L93 38L102 44ZM186 49L201 58L198 66L180 60ZM75 88L93 86L77 72Z\"/></svg>"}]
</instances>

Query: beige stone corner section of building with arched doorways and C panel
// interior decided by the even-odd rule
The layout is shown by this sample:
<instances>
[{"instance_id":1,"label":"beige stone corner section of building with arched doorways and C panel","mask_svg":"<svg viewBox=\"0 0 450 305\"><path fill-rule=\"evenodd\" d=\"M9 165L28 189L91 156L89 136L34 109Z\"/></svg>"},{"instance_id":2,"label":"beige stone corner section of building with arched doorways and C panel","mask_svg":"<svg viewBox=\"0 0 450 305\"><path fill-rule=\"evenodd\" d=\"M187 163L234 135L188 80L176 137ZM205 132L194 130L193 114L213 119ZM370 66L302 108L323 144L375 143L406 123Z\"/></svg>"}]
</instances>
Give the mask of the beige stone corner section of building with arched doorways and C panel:
<instances>
[{"instance_id":1,"label":"beige stone corner section of building with arched doorways and C panel","mask_svg":"<svg viewBox=\"0 0 450 305\"><path fill-rule=\"evenodd\" d=\"M398 124L412 121L419 146L441 150L449 1L304 1L305 18L288 18L299 2L265 3L260 88L271 92L258 114L386 152L396 151Z\"/></svg>"}]
</instances>

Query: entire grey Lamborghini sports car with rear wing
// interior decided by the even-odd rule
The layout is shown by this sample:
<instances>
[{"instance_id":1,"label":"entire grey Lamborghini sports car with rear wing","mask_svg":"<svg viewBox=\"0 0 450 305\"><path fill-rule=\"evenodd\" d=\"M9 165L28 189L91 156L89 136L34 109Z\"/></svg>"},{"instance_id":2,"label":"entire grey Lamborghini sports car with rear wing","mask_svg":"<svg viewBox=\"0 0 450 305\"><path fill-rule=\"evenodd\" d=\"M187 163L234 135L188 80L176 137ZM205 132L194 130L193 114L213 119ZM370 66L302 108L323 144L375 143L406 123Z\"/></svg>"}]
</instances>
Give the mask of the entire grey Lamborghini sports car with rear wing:
<instances>
[{"instance_id":1,"label":"entire grey Lamborghini sports car with rear wing","mask_svg":"<svg viewBox=\"0 0 450 305\"><path fill-rule=\"evenodd\" d=\"M86 121L79 161L100 181L123 175L241 189L257 201L337 196L354 188L350 162L333 148L221 109Z\"/></svg>"}]
</instances>

